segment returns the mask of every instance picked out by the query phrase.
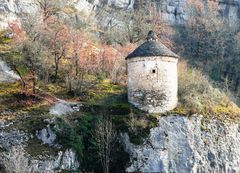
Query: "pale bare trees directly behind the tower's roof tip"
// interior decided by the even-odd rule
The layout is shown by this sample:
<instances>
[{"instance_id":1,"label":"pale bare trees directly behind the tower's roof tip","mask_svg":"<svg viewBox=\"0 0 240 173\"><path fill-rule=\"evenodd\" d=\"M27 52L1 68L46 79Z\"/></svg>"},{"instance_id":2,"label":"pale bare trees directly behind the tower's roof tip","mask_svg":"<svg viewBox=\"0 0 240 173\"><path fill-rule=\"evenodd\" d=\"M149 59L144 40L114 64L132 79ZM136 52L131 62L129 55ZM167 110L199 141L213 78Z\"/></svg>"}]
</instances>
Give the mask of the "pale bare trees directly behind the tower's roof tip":
<instances>
[{"instance_id":1,"label":"pale bare trees directly behind the tower's roof tip","mask_svg":"<svg viewBox=\"0 0 240 173\"><path fill-rule=\"evenodd\" d=\"M164 44L172 46L170 35L173 30L164 22L159 10L146 1L138 4L141 7L135 10L116 11L106 6L101 8L97 18L100 21L101 31L104 31L101 34L102 41L123 46L128 42L137 43L145 39L148 31L154 30Z\"/></svg>"}]
</instances>

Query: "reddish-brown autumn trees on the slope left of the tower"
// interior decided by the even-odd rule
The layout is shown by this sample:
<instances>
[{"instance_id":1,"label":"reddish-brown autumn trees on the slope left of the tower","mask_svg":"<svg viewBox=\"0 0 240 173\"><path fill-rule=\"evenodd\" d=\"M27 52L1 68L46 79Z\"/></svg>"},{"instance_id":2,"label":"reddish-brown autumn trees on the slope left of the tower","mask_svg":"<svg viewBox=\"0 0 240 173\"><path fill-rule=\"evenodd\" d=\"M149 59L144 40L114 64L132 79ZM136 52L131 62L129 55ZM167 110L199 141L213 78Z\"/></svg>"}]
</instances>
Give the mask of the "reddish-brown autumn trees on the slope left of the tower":
<instances>
[{"instance_id":1,"label":"reddish-brown autumn trees on the slope left of the tower","mask_svg":"<svg viewBox=\"0 0 240 173\"><path fill-rule=\"evenodd\" d=\"M13 22L9 29L14 35L13 48L21 52L19 63L30 74L21 77L22 83L32 83L34 93L40 80L64 82L74 92L82 92L103 77L113 83L125 83L125 57L133 44L102 44L94 33L74 29L54 16L25 26L28 28Z\"/></svg>"}]
</instances>

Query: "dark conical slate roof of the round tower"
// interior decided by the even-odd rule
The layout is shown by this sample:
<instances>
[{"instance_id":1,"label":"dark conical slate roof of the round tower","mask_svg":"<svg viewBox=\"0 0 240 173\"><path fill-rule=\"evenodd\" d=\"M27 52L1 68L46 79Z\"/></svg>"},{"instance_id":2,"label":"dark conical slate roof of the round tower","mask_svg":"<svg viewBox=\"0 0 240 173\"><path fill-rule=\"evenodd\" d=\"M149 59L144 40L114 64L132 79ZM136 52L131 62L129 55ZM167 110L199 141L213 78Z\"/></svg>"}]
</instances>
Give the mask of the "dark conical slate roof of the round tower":
<instances>
[{"instance_id":1,"label":"dark conical slate roof of the round tower","mask_svg":"<svg viewBox=\"0 0 240 173\"><path fill-rule=\"evenodd\" d=\"M169 50L162 43L158 42L155 39L148 39L132 53L130 53L126 59L134 57L151 57L151 56L168 56L179 58L178 55Z\"/></svg>"}]
</instances>

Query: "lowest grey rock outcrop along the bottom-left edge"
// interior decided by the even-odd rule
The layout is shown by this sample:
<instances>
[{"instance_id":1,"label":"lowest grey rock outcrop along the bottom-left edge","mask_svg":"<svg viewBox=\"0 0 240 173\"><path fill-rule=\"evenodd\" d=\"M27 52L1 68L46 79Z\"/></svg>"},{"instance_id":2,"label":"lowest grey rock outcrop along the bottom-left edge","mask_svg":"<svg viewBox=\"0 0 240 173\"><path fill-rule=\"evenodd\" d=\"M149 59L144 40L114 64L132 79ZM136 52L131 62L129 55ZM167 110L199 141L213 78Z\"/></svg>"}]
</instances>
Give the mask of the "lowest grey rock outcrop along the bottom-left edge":
<instances>
[{"instance_id":1,"label":"lowest grey rock outcrop along the bottom-left edge","mask_svg":"<svg viewBox=\"0 0 240 173\"><path fill-rule=\"evenodd\" d=\"M76 154L71 149L68 149L65 152L60 151L56 157L36 160L31 158L31 156L29 156L20 145L11 148L11 150L7 152L2 152L0 156L0 163L3 164L3 167L7 172L76 172L79 168L79 162L76 159Z\"/></svg>"}]
</instances>

